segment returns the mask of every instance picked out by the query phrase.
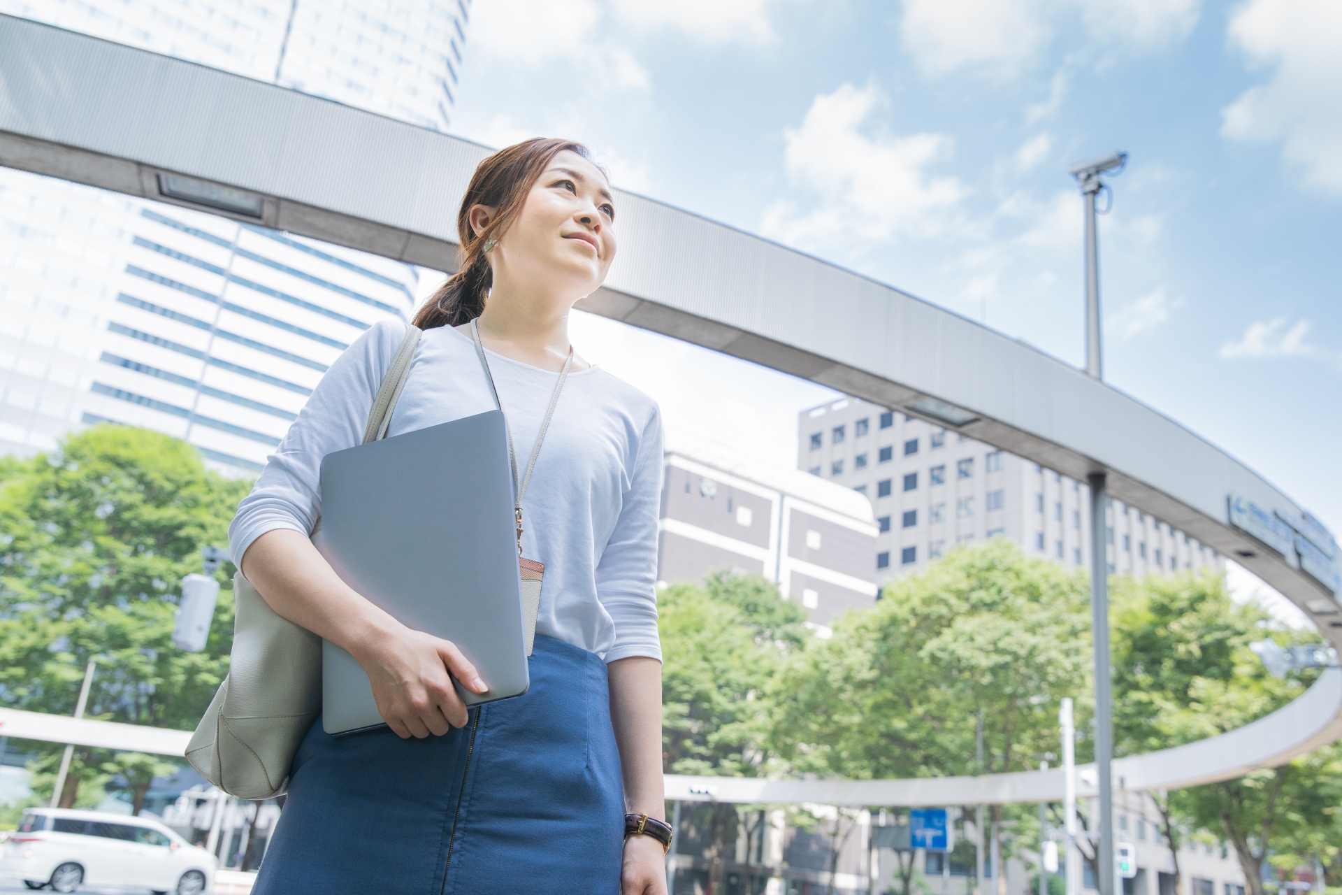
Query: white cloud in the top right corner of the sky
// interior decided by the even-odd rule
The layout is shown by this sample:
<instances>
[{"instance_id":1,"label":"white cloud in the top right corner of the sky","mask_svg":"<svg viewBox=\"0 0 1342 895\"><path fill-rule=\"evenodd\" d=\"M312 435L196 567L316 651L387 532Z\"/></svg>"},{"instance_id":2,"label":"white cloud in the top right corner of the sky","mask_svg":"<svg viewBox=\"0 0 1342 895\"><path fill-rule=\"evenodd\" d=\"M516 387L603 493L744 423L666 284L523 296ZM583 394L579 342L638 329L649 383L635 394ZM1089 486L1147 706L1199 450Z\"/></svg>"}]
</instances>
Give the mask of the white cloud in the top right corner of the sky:
<instances>
[{"instance_id":1,"label":"white cloud in the top right corner of the sky","mask_svg":"<svg viewBox=\"0 0 1342 895\"><path fill-rule=\"evenodd\" d=\"M1342 195L1342 4L1251 0L1231 19L1229 40L1249 62L1275 66L1223 110L1221 134L1282 141L1306 185Z\"/></svg>"}]
</instances>

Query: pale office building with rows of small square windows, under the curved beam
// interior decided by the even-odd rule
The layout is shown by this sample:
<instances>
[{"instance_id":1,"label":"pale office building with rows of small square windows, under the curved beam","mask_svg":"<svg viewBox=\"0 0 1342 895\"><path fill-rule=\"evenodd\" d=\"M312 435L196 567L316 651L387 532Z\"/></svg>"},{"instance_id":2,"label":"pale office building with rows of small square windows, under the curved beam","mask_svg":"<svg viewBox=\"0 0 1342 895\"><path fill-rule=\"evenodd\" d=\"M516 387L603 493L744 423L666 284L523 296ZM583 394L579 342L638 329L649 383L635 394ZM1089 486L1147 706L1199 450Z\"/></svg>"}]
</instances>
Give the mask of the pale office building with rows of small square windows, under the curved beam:
<instances>
[{"instance_id":1,"label":"pale office building with rows of small square windows, under the curved beam","mask_svg":"<svg viewBox=\"0 0 1342 895\"><path fill-rule=\"evenodd\" d=\"M1090 488L954 429L859 399L797 417L797 466L872 506L879 580L925 568L957 543L1011 538L1027 556L1090 569ZM1210 547L1111 501L1108 568L1158 574L1221 568Z\"/></svg>"}]
</instances>

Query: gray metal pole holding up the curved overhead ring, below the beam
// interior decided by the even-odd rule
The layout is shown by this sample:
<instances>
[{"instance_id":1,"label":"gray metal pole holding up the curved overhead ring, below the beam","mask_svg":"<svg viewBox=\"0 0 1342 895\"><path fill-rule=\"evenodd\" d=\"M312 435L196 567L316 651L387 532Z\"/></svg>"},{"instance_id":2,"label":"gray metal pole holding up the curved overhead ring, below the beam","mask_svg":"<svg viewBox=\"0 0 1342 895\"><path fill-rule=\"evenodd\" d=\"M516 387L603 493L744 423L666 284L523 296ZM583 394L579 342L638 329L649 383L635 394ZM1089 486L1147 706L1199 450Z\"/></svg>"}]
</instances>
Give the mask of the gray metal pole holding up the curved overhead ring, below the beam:
<instances>
[{"instance_id":1,"label":"gray metal pole holding up the curved overhead ring, below the beam","mask_svg":"<svg viewBox=\"0 0 1342 895\"><path fill-rule=\"evenodd\" d=\"M1114 895L1114 704L1108 676L1108 521L1104 518L1104 474L1088 476L1091 490L1091 645L1095 651L1095 769L1099 777L1099 821L1095 861L1099 892Z\"/></svg>"}]
</instances>

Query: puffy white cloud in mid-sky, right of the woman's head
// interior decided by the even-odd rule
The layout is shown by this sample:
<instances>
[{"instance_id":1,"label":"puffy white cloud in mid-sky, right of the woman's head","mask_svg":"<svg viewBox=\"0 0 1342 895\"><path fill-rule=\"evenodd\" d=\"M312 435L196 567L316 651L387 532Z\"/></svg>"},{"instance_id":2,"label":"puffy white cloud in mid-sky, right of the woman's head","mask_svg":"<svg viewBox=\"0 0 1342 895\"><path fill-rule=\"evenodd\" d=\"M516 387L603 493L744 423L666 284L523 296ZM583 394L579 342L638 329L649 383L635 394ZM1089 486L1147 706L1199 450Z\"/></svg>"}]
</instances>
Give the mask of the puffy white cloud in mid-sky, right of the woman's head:
<instances>
[{"instance_id":1,"label":"puffy white cloud in mid-sky, right of the woman's head","mask_svg":"<svg viewBox=\"0 0 1342 895\"><path fill-rule=\"evenodd\" d=\"M950 137L880 133L871 126L880 102L875 87L843 85L816 97L801 126L785 131L788 180L815 204L803 212L794 200L776 203L765 213L766 233L815 247L945 229L966 191L929 169L949 157Z\"/></svg>"}]
</instances>

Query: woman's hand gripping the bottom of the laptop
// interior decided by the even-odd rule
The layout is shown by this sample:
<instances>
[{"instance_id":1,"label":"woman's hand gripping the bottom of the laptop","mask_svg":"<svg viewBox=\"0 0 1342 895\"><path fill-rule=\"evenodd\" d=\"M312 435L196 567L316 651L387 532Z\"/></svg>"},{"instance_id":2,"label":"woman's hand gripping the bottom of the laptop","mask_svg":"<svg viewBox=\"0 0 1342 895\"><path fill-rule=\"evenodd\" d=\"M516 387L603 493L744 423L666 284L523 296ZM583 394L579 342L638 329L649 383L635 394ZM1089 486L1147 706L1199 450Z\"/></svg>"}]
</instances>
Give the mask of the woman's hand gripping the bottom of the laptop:
<instances>
[{"instance_id":1,"label":"woman's hand gripping the bottom of the laptop","mask_svg":"<svg viewBox=\"0 0 1342 895\"><path fill-rule=\"evenodd\" d=\"M405 625L378 632L352 655L373 684L382 721L401 739L442 737L448 725L466 725L466 703L452 678L472 692L488 690L456 644Z\"/></svg>"}]
</instances>

